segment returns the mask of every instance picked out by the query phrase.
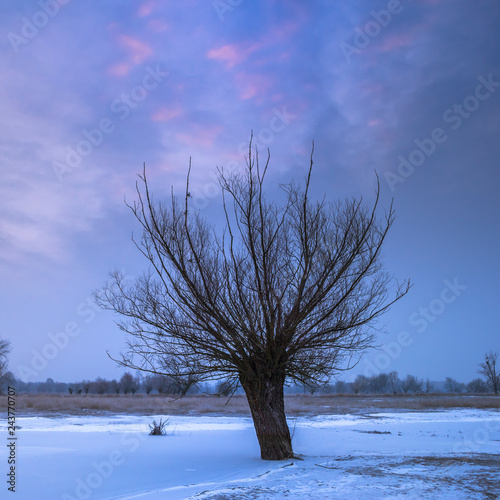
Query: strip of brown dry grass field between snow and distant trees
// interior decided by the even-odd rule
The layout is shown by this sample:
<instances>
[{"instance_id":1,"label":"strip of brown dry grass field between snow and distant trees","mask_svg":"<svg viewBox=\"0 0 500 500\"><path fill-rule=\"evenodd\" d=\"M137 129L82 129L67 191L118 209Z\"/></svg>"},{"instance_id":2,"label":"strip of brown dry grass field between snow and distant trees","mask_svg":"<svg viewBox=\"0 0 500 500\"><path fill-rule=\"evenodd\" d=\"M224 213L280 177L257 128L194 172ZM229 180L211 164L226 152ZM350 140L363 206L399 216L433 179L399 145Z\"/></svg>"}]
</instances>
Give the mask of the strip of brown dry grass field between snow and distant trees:
<instances>
[{"instance_id":1,"label":"strip of brown dry grass field between snow and distant trees","mask_svg":"<svg viewBox=\"0 0 500 500\"><path fill-rule=\"evenodd\" d=\"M2 411L7 409L7 396L0 396ZM363 413L373 410L440 410L445 408L499 409L500 397L494 395L459 394L333 394L291 395L285 397L288 415ZM103 413L139 415L250 415L244 395L227 397L209 395L174 396L136 395L70 395L18 394L15 410L22 415L100 415Z\"/></svg>"}]
</instances>

